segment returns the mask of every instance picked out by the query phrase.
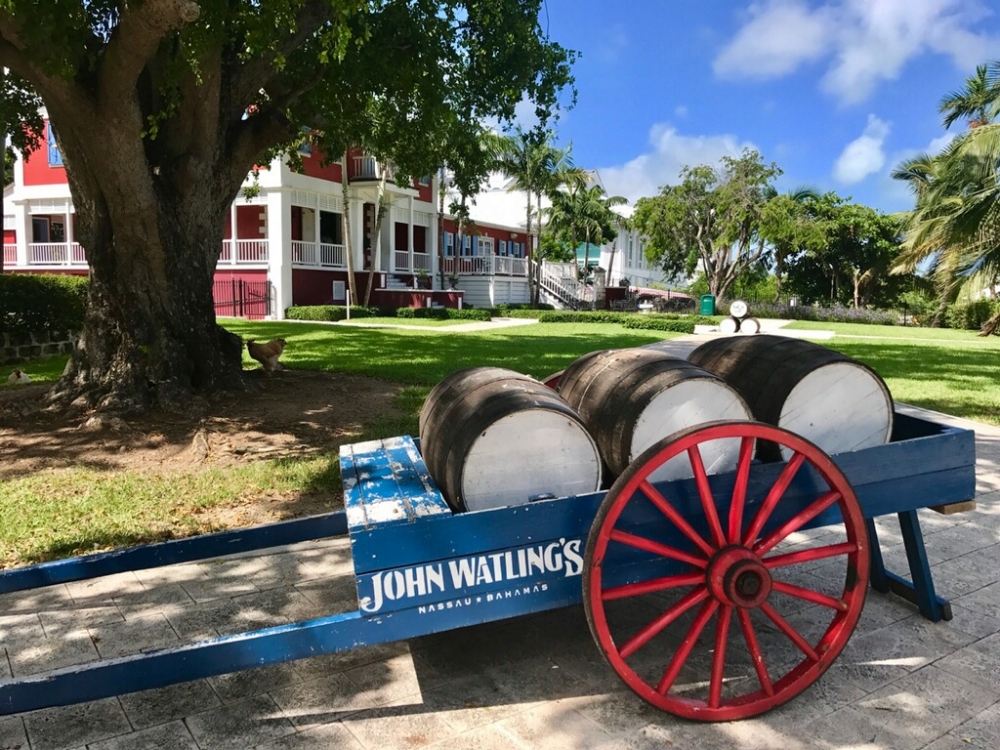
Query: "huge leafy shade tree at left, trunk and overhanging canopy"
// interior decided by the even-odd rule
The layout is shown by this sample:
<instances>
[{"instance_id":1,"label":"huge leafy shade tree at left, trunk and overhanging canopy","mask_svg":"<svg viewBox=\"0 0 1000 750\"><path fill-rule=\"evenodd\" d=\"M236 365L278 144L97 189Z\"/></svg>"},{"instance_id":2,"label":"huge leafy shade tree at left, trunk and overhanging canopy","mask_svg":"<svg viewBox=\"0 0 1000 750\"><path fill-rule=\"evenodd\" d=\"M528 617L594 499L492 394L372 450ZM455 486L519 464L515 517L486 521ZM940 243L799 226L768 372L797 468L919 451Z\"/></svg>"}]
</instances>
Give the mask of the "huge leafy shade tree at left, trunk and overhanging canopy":
<instances>
[{"instance_id":1,"label":"huge leafy shade tree at left, trunk and overhanging canopy","mask_svg":"<svg viewBox=\"0 0 1000 750\"><path fill-rule=\"evenodd\" d=\"M437 168L453 133L509 122L525 96L544 120L573 54L545 38L540 4L4 3L0 66L44 101L91 268L56 395L182 405L240 384L240 341L216 325L212 278L247 173L303 126L325 154L371 148L406 177ZM37 120L30 106L18 114Z\"/></svg>"}]
</instances>

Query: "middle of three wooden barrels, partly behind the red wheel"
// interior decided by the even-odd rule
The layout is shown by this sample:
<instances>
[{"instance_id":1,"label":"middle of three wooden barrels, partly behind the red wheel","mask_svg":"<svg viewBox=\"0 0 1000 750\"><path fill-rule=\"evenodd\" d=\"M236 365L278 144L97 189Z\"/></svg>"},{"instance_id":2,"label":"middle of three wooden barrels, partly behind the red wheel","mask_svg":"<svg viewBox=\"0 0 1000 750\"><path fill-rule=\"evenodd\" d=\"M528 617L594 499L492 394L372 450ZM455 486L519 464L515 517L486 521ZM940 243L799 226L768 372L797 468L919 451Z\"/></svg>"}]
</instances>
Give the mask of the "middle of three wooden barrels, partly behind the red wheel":
<instances>
[{"instance_id":1,"label":"middle of three wooden barrels, partly behind the red wheel","mask_svg":"<svg viewBox=\"0 0 1000 750\"><path fill-rule=\"evenodd\" d=\"M653 349L591 352L566 368L559 394L597 441L608 473L617 476L646 448L678 430L720 419L750 419L750 410L719 377ZM703 456L709 473L735 466L739 440L718 441ZM656 479L691 476L686 457Z\"/></svg>"}]
</instances>

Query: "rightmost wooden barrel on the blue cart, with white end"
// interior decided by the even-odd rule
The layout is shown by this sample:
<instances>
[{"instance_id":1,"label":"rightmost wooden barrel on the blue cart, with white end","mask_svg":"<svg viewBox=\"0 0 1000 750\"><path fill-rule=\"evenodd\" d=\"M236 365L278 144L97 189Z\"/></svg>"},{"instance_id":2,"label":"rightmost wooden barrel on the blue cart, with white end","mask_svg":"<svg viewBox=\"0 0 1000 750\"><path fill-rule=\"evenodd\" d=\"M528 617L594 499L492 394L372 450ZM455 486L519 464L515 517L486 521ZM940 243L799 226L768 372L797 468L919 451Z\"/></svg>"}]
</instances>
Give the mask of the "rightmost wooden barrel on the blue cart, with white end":
<instances>
[{"instance_id":1,"label":"rightmost wooden barrel on the blue cart, with white end","mask_svg":"<svg viewBox=\"0 0 1000 750\"><path fill-rule=\"evenodd\" d=\"M755 419L827 453L882 445L892 435L892 396L882 378L824 346L784 336L720 338L699 346L688 361L738 390ZM776 460L778 451L761 444L757 455Z\"/></svg>"}]
</instances>

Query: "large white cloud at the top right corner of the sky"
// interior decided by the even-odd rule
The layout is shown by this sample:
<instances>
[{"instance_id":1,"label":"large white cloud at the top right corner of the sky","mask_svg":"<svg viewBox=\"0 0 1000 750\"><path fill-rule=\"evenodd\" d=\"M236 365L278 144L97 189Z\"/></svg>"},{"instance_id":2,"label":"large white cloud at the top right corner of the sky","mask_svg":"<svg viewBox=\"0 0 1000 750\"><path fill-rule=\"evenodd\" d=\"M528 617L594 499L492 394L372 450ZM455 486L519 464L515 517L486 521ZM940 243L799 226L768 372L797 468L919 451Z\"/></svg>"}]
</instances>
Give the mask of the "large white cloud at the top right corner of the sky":
<instances>
[{"instance_id":1,"label":"large white cloud at the top right corner of the sky","mask_svg":"<svg viewBox=\"0 0 1000 750\"><path fill-rule=\"evenodd\" d=\"M842 104L865 101L914 57L947 55L963 70L987 59L1000 40L976 33L991 14L980 0L764 0L715 59L716 75L778 78L827 61L821 87Z\"/></svg>"}]
</instances>

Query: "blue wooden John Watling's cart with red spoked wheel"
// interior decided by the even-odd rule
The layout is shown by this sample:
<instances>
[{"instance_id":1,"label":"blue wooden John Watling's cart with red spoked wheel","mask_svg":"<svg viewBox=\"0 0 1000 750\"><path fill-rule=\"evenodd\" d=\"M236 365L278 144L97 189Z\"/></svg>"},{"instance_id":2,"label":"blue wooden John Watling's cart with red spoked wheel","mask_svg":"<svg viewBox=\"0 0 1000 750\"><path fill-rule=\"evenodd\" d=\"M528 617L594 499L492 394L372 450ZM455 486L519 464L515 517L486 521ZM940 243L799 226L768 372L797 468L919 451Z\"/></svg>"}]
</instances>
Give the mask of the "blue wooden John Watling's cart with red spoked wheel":
<instances>
[{"instance_id":1,"label":"blue wooden John Watling's cart with red spoked wheel","mask_svg":"<svg viewBox=\"0 0 1000 750\"><path fill-rule=\"evenodd\" d=\"M804 690L840 653L869 582L950 618L917 510L975 492L974 434L896 415L893 441L831 459L757 422L660 441L607 492L455 513L409 437L341 449L345 510L0 573L0 592L349 535L356 611L0 682L0 714L584 605L598 647L645 700L729 720ZM739 441L729 474L701 449ZM789 460L754 460L759 440ZM668 461L690 479L658 482ZM544 488L540 488L544 491ZM885 570L873 519L897 514L909 579Z\"/></svg>"}]
</instances>

